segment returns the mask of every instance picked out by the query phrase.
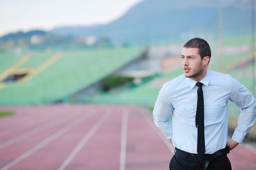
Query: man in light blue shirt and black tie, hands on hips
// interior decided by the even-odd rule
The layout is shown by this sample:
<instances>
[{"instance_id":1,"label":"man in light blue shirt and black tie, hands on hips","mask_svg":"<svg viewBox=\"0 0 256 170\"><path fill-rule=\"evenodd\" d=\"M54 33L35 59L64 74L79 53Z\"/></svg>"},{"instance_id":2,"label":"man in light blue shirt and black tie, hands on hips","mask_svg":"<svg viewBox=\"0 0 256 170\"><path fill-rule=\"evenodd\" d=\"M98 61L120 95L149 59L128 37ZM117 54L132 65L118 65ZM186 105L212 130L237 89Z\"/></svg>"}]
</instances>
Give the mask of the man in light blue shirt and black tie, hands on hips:
<instances>
[{"instance_id":1,"label":"man in light blue shirt and black tie, hands on hips","mask_svg":"<svg viewBox=\"0 0 256 170\"><path fill-rule=\"evenodd\" d=\"M254 96L230 75L208 71L210 56L206 40L186 42L181 53L184 74L164 84L156 99L154 123L176 147L171 170L231 169L229 150L255 122ZM228 100L241 108L229 141Z\"/></svg>"}]
</instances>

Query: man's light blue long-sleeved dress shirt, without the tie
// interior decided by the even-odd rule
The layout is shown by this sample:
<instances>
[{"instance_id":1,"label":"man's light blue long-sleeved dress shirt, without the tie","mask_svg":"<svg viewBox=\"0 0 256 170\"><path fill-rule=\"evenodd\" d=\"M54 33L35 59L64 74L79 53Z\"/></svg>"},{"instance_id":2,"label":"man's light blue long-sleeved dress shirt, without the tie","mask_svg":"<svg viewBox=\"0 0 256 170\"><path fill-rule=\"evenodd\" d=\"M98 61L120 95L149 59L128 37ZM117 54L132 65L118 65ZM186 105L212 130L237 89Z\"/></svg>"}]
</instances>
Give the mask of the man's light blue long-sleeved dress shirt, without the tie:
<instances>
[{"instance_id":1,"label":"man's light blue long-sleeved dress shirt, without the tie","mask_svg":"<svg viewBox=\"0 0 256 170\"><path fill-rule=\"evenodd\" d=\"M245 86L228 74L208 71L203 83L206 154L225 148L228 140L228 100L241 108L232 139L240 143L255 123L256 101ZM167 82L154 106L154 123L174 147L197 153L196 81L183 75ZM171 118L172 119L171 119Z\"/></svg>"}]
</instances>

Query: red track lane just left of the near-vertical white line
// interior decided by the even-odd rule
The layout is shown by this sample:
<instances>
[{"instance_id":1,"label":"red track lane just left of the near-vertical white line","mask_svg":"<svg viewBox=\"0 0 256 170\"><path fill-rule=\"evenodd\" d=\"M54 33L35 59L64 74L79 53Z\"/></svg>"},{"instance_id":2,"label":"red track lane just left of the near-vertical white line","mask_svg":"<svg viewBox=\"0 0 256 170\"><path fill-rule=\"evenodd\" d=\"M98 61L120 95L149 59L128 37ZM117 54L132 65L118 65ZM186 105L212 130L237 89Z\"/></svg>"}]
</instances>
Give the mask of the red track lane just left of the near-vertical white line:
<instances>
[{"instance_id":1,"label":"red track lane just left of the near-vertical white line","mask_svg":"<svg viewBox=\"0 0 256 170\"><path fill-rule=\"evenodd\" d=\"M65 169L119 169L122 108L106 107L111 114Z\"/></svg>"}]
</instances>

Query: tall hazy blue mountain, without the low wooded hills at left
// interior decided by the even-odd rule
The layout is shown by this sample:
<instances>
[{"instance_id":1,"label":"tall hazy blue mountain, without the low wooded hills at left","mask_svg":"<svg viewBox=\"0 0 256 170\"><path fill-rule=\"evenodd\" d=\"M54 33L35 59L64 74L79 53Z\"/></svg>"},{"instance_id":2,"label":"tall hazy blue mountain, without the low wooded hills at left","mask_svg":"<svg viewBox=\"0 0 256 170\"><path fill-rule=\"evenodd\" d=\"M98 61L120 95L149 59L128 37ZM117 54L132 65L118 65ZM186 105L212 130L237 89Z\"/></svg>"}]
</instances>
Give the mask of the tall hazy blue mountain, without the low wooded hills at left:
<instances>
[{"instance_id":1,"label":"tall hazy blue mountain, without the low wooded hills at left","mask_svg":"<svg viewBox=\"0 0 256 170\"><path fill-rule=\"evenodd\" d=\"M223 13L224 33L250 33L249 1L146 0L116 21L100 26L57 27L58 35L108 37L114 43L180 40L189 34L218 34L218 13Z\"/></svg>"}]
</instances>

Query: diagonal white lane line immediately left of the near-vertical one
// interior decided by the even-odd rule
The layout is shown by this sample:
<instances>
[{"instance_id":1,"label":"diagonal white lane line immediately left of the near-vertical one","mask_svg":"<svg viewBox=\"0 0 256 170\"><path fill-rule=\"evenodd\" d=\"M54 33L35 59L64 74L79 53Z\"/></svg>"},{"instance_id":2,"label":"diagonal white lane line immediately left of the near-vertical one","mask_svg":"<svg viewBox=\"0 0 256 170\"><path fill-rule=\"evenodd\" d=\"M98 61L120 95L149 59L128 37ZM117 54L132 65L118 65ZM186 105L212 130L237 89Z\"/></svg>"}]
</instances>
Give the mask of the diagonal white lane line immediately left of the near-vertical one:
<instances>
[{"instance_id":1,"label":"diagonal white lane line immediately left of the near-vertical one","mask_svg":"<svg viewBox=\"0 0 256 170\"><path fill-rule=\"evenodd\" d=\"M105 120L108 118L109 115L110 115L110 112L107 112L104 115L102 115L102 117L99 120L97 120L97 123L95 123L95 125L92 126L90 131L87 132L85 137L82 138L82 140L75 147L75 149L73 149L73 152L71 152L71 154L67 157L67 159L65 159L63 164L61 164L61 166L58 168L58 170L63 170L68 166L68 164L70 164L70 162L73 160L73 158L78 154L78 152L80 152L80 150L82 149L82 147L85 146L85 144L88 142L88 140L90 140L92 135L94 135L95 132L97 132L97 130L100 128L102 123L105 122Z\"/></svg>"}]
</instances>

